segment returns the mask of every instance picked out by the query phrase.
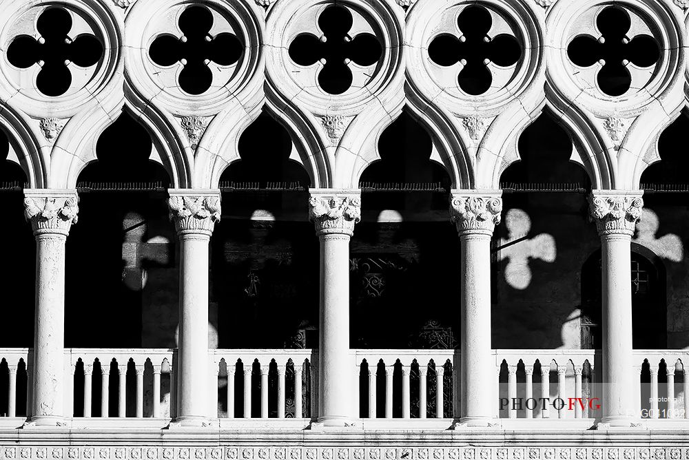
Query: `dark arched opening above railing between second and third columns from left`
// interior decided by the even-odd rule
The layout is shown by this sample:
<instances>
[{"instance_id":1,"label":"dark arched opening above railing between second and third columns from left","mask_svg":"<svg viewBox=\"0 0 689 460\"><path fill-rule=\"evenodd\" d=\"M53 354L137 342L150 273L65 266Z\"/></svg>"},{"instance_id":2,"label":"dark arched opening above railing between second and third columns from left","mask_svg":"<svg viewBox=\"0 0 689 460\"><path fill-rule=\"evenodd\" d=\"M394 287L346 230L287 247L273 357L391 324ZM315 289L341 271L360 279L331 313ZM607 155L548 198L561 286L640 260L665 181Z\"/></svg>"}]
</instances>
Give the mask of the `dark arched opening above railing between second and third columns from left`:
<instances>
[{"instance_id":1,"label":"dark arched opening above railing between second and third columns from left","mask_svg":"<svg viewBox=\"0 0 689 460\"><path fill-rule=\"evenodd\" d=\"M241 159L220 177L221 185L262 188L223 193L211 240L220 348L318 346L318 239L307 222L309 176L289 159L293 148L289 132L264 112L240 136ZM302 191L267 191L269 182Z\"/></svg>"}]
</instances>

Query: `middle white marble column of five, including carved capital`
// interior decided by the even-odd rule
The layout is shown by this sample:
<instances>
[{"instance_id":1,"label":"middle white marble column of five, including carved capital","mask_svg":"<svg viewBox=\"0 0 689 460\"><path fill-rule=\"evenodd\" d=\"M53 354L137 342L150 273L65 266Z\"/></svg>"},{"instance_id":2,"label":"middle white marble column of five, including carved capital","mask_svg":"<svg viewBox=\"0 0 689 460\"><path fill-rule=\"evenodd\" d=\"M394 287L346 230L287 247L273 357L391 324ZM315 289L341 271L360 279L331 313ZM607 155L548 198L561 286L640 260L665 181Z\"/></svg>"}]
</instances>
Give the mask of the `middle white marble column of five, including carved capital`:
<instances>
[{"instance_id":1,"label":"middle white marble column of five, including carved capital","mask_svg":"<svg viewBox=\"0 0 689 460\"><path fill-rule=\"evenodd\" d=\"M318 424L350 426L358 401L353 401L349 353L349 240L360 220L360 192L312 189L310 193L309 219L320 240Z\"/></svg>"}]
</instances>

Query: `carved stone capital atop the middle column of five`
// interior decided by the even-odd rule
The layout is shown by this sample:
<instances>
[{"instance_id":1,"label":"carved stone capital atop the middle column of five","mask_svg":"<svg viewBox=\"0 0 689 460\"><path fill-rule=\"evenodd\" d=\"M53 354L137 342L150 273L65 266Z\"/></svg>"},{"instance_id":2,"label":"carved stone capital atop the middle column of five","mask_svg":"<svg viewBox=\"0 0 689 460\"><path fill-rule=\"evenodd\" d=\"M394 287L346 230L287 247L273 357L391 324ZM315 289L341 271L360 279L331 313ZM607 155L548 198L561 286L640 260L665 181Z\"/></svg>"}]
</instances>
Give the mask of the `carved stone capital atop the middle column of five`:
<instances>
[{"instance_id":1,"label":"carved stone capital atop the middle column of five","mask_svg":"<svg viewBox=\"0 0 689 460\"><path fill-rule=\"evenodd\" d=\"M311 190L309 220L316 226L318 236L354 233L354 224L361 220L359 191L331 189Z\"/></svg>"}]
</instances>

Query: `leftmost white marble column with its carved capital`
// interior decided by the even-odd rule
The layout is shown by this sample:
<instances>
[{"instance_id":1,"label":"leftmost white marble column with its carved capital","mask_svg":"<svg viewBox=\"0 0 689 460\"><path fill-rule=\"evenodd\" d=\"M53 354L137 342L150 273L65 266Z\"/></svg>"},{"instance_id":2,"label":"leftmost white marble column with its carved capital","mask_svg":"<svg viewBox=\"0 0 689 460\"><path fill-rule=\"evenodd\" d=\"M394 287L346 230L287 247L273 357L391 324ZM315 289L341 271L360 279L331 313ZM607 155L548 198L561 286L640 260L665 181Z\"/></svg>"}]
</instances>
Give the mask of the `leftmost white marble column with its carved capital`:
<instances>
[{"instance_id":1,"label":"leftmost white marble column with its carved capital","mask_svg":"<svg viewBox=\"0 0 689 460\"><path fill-rule=\"evenodd\" d=\"M26 189L24 215L36 237L36 317L31 425L65 416L65 242L76 223L75 190Z\"/></svg>"}]
</instances>

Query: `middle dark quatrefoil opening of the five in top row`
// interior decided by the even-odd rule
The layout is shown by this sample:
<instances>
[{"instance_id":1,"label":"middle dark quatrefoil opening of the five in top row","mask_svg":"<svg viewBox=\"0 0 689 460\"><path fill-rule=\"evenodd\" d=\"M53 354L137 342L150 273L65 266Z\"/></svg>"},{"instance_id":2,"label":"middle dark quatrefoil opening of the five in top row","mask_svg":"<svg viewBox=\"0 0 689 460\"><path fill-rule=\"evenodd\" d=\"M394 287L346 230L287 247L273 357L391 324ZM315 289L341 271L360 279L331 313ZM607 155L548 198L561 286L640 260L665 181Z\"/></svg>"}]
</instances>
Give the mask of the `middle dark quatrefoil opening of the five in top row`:
<instances>
[{"instance_id":1,"label":"middle dark quatrefoil opening of the five in top row","mask_svg":"<svg viewBox=\"0 0 689 460\"><path fill-rule=\"evenodd\" d=\"M352 70L371 77L382 55L380 42L373 34L350 36L353 18L343 6L329 6L318 17L320 37L303 33L289 45L289 57L305 67L317 65L318 85L328 94L342 94L353 82Z\"/></svg>"}]
</instances>

